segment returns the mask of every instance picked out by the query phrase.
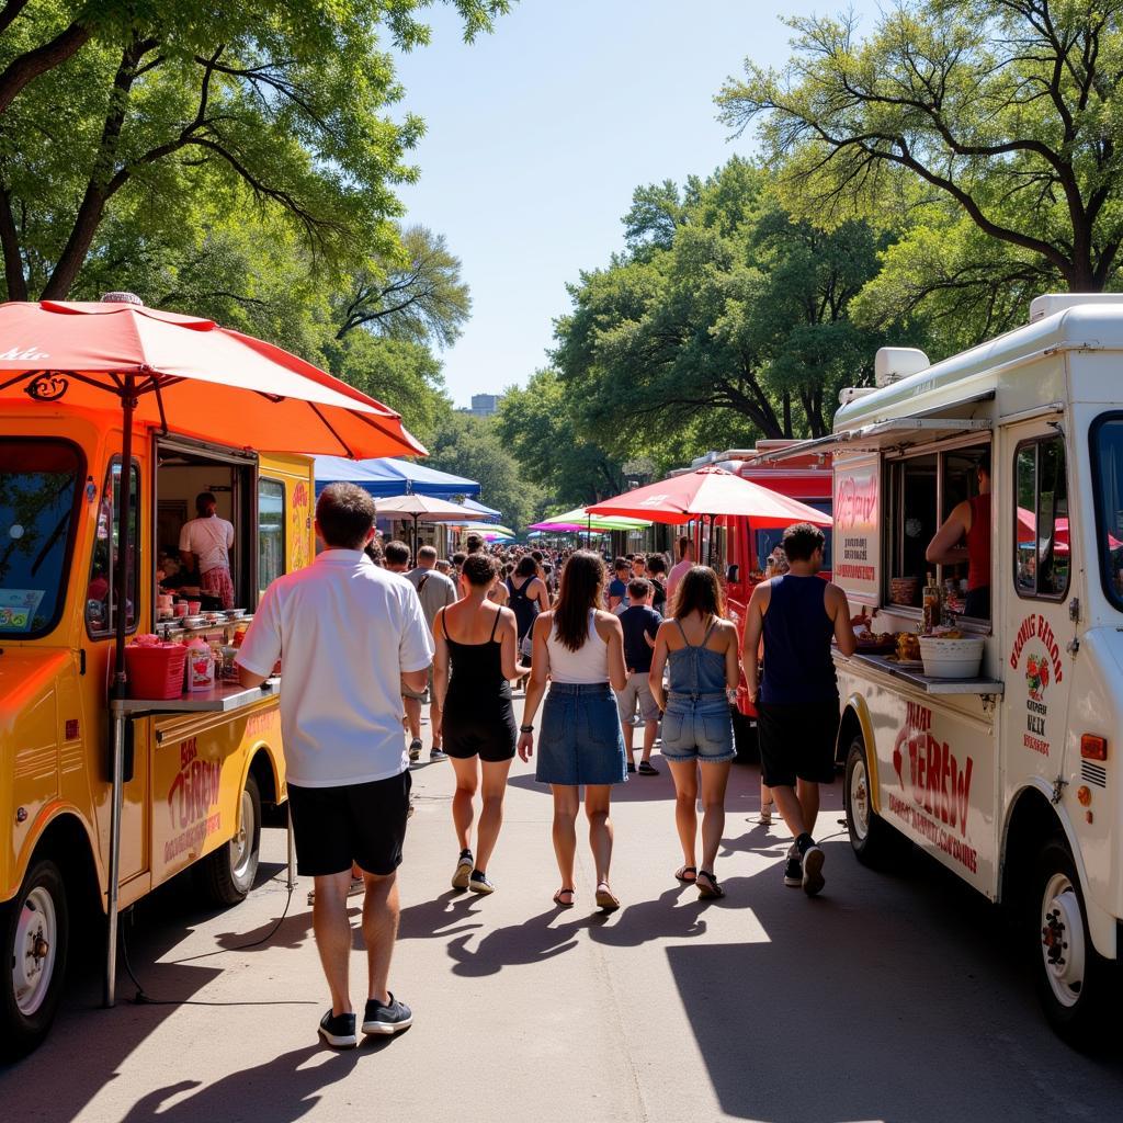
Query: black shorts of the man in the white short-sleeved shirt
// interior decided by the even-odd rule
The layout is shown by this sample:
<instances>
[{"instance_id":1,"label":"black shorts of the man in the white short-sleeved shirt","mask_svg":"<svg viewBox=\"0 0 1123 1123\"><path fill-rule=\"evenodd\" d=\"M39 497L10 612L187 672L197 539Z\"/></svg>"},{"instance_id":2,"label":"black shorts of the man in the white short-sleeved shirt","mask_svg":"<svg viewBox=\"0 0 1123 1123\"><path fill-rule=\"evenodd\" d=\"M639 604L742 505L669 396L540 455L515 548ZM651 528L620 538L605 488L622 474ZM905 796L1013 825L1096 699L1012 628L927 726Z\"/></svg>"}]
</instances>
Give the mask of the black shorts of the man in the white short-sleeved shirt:
<instances>
[{"instance_id":1,"label":"black shorts of the man in the white short-sleeved shirt","mask_svg":"<svg viewBox=\"0 0 1123 1123\"><path fill-rule=\"evenodd\" d=\"M402 862L410 813L408 772L341 787L289 785L296 873L323 877L350 869L385 877Z\"/></svg>"}]
</instances>

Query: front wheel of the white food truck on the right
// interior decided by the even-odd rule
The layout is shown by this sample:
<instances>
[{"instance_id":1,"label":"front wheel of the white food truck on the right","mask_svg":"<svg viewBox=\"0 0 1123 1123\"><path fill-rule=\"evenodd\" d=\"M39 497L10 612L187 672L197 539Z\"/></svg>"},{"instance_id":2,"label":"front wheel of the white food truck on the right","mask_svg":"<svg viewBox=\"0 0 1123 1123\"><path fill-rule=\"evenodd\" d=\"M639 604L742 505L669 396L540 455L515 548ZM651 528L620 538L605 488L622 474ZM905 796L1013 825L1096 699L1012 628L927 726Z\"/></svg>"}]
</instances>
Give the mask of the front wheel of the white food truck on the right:
<instances>
[{"instance_id":1,"label":"front wheel of the white food truck on the right","mask_svg":"<svg viewBox=\"0 0 1123 1123\"><path fill-rule=\"evenodd\" d=\"M1035 944L1038 997L1049 1024L1069 1044L1103 1043L1119 987L1116 966L1092 944L1080 878L1061 837L1038 858L1028 937Z\"/></svg>"}]
</instances>

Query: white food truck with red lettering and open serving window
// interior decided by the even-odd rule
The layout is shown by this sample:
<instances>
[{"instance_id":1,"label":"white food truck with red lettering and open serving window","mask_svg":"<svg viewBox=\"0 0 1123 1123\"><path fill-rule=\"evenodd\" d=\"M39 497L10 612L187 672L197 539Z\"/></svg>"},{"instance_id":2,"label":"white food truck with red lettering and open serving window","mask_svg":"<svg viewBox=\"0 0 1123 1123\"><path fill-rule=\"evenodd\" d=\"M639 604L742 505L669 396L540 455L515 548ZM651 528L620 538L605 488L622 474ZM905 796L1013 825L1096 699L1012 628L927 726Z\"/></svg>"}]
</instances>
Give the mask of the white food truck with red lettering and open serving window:
<instances>
[{"instance_id":1,"label":"white food truck with red lettering and open serving window","mask_svg":"<svg viewBox=\"0 0 1123 1123\"><path fill-rule=\"evenodd\" d=\"M836 656L853 851L879 865L907 840L1011 905L1072 1041L1102 1022L1123 933L1121 356L1123 299L1040 296L944 362L883 349L876 386L794 449L833 454L834 581L869 646L921 629L931 581L982 648L968 677L926 674L912 641ZM989 511L974 599L958 556L929 560L973 501Z\"/></svg>"}]
</instances>

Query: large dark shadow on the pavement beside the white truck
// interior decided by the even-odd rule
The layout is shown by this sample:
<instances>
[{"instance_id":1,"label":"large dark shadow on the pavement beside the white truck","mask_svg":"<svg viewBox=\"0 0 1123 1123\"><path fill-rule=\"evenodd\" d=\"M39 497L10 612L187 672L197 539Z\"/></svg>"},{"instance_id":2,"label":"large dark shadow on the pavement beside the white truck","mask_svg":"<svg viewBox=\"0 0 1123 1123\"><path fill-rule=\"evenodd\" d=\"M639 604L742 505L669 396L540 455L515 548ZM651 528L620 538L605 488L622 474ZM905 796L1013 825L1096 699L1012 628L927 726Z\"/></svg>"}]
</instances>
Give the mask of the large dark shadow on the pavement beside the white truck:
<instances>
[{"instance_id":1,"label":"large dark shadow on the pavement beside the white truck","mask_svg":"<svg viewBox=\"0 0 1123 1123\"><path fill-rule=\"evenodd\" d=\"M727 884L722 904L751 902L766 940L666 949L723 1111L770 1123L1103 1117L1123 1062L1052 1035L1002 914L926 858L885 879L843 846L830 844L829 895L813 902L775 867ZM1065 1058L1065 1081L1041 1074L1042 1054Z\"/></svg>"}]
</instances>

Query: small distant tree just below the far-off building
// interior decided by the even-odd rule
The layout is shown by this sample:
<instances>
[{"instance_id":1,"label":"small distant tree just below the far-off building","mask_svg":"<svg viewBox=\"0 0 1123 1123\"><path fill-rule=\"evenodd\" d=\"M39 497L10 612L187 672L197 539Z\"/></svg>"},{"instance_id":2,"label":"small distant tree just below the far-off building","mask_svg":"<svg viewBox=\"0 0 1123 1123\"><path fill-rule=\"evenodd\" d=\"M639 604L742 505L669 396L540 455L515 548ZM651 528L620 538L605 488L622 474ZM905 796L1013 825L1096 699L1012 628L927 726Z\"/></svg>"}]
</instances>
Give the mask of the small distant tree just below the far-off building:
<instances>
[{"instance_id":1,"label":"small distant tree just below the far-off building","mask_svg":"<svg viewBox=\"0 0 1123 1123\"><path fill-rule=\"evenodd\" d=\"M538 512L541 492L522 478L492 418L450 413L438 428L429 454L429 467L477 480L481 501L502 511L512 530L521 530Z\"/></svg>"}]
</instances>

